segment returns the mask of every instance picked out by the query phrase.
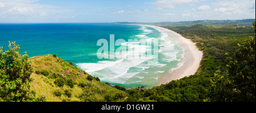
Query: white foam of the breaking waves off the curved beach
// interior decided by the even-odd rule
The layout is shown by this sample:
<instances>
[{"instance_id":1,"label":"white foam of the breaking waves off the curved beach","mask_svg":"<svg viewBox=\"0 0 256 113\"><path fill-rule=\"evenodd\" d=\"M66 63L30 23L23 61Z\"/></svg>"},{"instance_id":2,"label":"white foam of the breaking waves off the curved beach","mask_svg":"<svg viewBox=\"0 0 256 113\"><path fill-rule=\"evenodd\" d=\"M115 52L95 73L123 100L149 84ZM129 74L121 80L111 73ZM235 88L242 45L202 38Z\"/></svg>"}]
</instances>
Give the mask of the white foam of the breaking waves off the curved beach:
<instances>
[{"instance_id":1,"label":"white foam of the breaking waves off the curved beach","mask_svg":"<svg viewBox=\"0 0 256 113\"><path fill-rule=\"evenodd\" d=\"M147 27L145 26L141 26L140 29L143 32L141 34L135 35L135 37L143 39L141 41L152 41L154 39L154 38L147 37L147 34L151 33L152 30L147 29ZM156 29L156 30L159 30L159 29ZM131 58L131 59L126 59L125 57L122 57L123 59L119 59L116 61L105 60L105 61L99 61L97 63L77 63L77 66L88 73L92 73L95 76L101 77L101 80L103 81L114 82L119 84L133 84L133 83L141 82L141 80L144 79L143 75L153 75L154 77L150 77L150 78L158 80L157 75L160 75L165 71L174 71L175 69L183 66L183 63L184 63L182 61L177 64L176 68L172 68L170 70L168 69L163 70L164 68L162 67L167 65L165 63L162 63L163 61L167 63L173 60L180 60L180 59L177 59L177 55L180 55L180 54L178 54L179 50L175 48L177 47L176 46L177 44L175 42L172 42L171 38L168 37L168 33L164 31L160 31L160 33L161 33L161 37L158 38L160 40L158 52L161 53L160 55L163 55L161 58L162 61L159 61L161 63L156 62L154 64L147 64L146 61L152 58L141 59L141 55L145 55L147 52L147 49L151 46L141 45L141 42L123 42L121 43L121 45L127 46L127 51L125 54L123 54L123 56L126 56L126 58ZM139 53L139 54L134 54L134 53ZM184 56L184 54L181 54L181 59L183 59L182 55ZM180 56L178 58L180 58ZM135 70L133 70L134 68ZM158 71L152 72L151 68L156 69ZM160 68L162 69L161 71L159 71ZM131 81L131 80L134 80L134 81Z\"/></svg>"}]
</instances>

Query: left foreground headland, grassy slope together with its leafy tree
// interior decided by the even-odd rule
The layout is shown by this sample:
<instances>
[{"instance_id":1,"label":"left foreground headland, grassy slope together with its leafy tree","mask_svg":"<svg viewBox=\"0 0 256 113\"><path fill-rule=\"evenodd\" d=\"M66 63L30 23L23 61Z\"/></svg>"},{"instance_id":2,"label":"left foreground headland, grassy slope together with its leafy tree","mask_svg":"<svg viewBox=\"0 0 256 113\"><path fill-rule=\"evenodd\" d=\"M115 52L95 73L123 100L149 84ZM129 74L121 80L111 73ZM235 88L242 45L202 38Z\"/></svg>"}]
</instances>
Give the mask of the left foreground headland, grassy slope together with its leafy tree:
<instances>
[{"instance_id":1,"label":"left foreground headland, grassy slope together with its leafy tree","mask_svg":"<svg viewBox=\"0 0 256 113\"><path fill-rule=\"evenodd\" d=\"M15 42L9 47L0 49L0 101L124 101L127 95L56 54L28 59Z\"/></svg>"}]
</instances>

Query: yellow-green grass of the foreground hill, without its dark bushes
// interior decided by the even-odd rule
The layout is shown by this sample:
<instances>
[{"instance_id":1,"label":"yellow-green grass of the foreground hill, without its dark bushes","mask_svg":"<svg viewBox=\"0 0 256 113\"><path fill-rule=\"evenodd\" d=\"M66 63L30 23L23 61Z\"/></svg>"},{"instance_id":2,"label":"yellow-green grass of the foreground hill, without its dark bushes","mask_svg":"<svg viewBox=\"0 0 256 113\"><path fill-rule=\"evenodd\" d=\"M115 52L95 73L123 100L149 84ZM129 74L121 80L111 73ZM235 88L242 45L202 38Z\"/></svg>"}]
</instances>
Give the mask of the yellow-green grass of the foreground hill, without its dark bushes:
<instances>
[{"instance_id":1,"label":"yellow-green grass of the foreground hill, without its dark bushes","mask_svg":"<svg viewBox=\"0 0 256 113\"><path fill-rule=\"evenodd\" d=\"M34 72L31 74L32 79L34 79L31 83L31 90L36 92L36 96L44 95L47 101L88 101L80 96L85 92L89 92L92 94L91 96L96 97L97 100L94 101L105 101L105 95L115 95L117 93L126 95L125 92L115 89L100 81L96 81L95 79L92 81L87 80L86 77L88 74L86 72L72 66L59 57L53 57L53 55L48 54L43 56L34 56L30 58L30 60L32 68L34 69ZM49 72L48 76L41 74L38 75L35 73L35 71L42 71L43 69L46 69ZM55 73L55 75L61 75L65 79L72 79L75 81L74 87L70 88L67 84L61 87L55 85L55 79L52 77L53 73ZM89 84L89 86L81 88L81 86L78 86L80 82ZM53 94L56 90L60 90L62 94L60 96ZM71 97L65 95L65 90L71 91ZM119 101L123 100L119 99Z\"/></svg>"}]
</instances>

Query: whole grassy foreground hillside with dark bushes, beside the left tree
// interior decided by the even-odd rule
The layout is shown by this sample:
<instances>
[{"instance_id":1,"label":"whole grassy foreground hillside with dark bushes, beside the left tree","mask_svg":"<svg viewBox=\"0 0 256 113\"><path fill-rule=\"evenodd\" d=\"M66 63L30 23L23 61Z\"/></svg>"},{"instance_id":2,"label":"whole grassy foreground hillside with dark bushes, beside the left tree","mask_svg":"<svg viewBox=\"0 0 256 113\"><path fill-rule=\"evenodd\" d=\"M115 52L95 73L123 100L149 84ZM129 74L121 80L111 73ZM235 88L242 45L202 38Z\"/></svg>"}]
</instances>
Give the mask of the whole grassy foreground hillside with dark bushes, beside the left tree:
<instances>
[{"instance_id":1,"label":"whole grassy foreground hillside with dark bushes, beside the left tree","mask_svg":"<svg viewBox=\"0 0 256 113\"><path fill-rule=\"evenodd\" d=\"M34 69L31 90L46 101L124 101L127 95L57 56L48 54L29 60Z\"/></svg>"}]
</instances>

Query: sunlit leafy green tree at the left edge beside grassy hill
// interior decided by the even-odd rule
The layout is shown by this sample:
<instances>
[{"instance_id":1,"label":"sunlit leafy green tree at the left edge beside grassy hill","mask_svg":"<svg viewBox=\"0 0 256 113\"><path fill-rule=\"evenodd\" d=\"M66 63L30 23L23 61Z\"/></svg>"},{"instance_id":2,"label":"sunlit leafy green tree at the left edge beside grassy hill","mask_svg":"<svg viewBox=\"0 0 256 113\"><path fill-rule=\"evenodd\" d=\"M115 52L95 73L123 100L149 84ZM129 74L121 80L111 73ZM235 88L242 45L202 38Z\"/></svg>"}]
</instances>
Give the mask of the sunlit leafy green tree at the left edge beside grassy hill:
<instances>
[{"instance_id":1,"label":"sunlit leafy green tree at the left edge beside grassy hill","mask_svg":"<svg viewBox=\"0 0 256 113\"><path fill-rule=\"evenodd\" d=\"M35 98L35 92L30 91L33 69L27 53L21 56L15 41L9 41L9 48L3 52L0 47L0 101L45 101L45 97Z\"/></svg>"}]
</instances>

